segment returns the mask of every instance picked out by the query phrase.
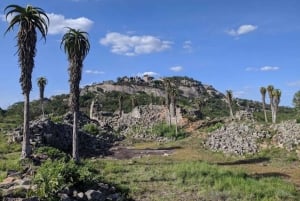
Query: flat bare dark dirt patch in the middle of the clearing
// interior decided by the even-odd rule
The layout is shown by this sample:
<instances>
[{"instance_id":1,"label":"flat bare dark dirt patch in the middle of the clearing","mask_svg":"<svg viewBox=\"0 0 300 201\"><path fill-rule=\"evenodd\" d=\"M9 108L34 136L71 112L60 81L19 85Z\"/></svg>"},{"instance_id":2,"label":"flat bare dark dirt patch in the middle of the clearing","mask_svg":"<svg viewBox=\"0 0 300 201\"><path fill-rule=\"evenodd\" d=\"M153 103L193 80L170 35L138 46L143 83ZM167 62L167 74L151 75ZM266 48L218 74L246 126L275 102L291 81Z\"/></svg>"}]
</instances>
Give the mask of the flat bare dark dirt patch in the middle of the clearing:
<instances>
[{"instance_id":1,"label":"flat bare dark dirt patch in the middle of the clearing","mask_svg":"<svg viewBox=\"0 0 300 201\"><path fill-rule=\"evenodd\" d=\"M115 159L131 159L150 155L169 156L175 151L175 149L176 148L132 149L128 147L113 147L110 149L111 155L109 157Z\"/></svg>"}]
</instances>

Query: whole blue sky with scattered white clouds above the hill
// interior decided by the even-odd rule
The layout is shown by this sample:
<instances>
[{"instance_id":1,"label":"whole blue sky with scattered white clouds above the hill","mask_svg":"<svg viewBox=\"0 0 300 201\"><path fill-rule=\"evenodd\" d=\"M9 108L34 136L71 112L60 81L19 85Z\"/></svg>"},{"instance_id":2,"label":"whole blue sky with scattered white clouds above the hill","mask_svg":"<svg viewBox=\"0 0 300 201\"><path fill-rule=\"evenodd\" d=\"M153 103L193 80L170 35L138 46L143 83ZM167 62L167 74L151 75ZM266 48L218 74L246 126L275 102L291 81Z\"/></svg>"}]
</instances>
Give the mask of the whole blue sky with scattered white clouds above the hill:
<instances>
[{"instance_id":1,"label":"whole blue sky with scattered white clouds above the hill","mask_svg":"<svg viewBox=\"0 0 300 201\"><path fill-rule=\"evenodd\" d=\"M300 89L299 0L1 0L2 108L23 100L18 28L4 35L9 4L41 7L50 18L47 41L37 44L31 99L38 98L40 76L48 79L46 97L69 91L60 49L65 27L89 33L81 86L125 75L182 75L253 100L272 84L288 106Z\"/></svg>"}]
</instances>

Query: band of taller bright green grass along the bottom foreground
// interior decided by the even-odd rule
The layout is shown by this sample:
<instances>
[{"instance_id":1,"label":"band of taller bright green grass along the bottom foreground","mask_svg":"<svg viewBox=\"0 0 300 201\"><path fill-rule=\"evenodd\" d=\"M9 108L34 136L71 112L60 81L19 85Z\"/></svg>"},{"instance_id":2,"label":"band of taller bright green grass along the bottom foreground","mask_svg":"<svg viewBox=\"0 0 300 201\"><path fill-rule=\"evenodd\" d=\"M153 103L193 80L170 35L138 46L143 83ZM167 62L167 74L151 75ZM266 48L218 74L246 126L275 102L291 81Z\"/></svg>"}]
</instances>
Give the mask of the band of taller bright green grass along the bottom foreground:
<instances>
[{"instance_id":1,"label":"band of taller bright green grass along the bottom foreground","mask_svg":"<svg viewBox=\"0 0 300 201\"><path fill-rule=\"evenodd\" d=\"M129 189L140 200L194 199L220 200L297 200L294 185L276 177L255 178L241 171L205 162L178 162L169 158L149 157L127 161L99 160L101 177ZM162 197L163 194L163 197ZM174 198L174 197L177 197ZM192 198L191 198L192 200Z\"/></svg>"}]
</instances>

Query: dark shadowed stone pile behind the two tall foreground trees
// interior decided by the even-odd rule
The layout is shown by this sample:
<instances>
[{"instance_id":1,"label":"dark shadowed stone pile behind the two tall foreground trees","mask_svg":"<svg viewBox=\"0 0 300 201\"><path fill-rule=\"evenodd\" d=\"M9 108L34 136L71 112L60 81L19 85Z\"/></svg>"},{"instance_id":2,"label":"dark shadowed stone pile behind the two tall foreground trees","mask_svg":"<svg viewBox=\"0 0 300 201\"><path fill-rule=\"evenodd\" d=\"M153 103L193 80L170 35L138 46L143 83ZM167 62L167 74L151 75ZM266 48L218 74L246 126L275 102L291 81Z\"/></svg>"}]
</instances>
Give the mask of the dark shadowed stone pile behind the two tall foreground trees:
<instances>
[{"instance_id":1,"label":"dark shadowed stone pile behind the two tall foreground trees","mask_svg":"<svg viewBox=\"0 0 300 201\"><path fill-rule=\"evenodd\" d=\"M72 150L72 117L67 114L64 123L54 123L50 119L38 119L30 122L30 143L33 147L52 146L70 153ZM85 124L95 124L83 114L79 115L79 127ZM21 142L22 129L16 129L9 135L10 141ZM107 155L111 146L120 138L109 130L103 130L98 135L91 135L82 130L78 132L79 152L81 155Z\"/></svg>"}]
</instances>

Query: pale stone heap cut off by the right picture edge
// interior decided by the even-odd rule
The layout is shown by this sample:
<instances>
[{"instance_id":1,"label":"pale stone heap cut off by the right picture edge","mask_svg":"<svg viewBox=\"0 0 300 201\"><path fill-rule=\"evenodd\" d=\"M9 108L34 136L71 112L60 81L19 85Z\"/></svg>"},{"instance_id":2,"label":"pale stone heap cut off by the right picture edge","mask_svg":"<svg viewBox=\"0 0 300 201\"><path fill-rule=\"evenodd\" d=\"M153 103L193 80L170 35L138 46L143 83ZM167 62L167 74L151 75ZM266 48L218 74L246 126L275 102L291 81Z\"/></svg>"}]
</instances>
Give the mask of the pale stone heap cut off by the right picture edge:
<instances>
[{"instance_id":1,"label":"pale stone heap cut off by the right picture edge","mask_svg":"<svg viewBox=\"0 0 300 201\"><path fill-rule=\"evenodd\" d=\"M300 144L300 124L296 120L285 121L272 125L276 134L273 136L274 143L289 151L295 150Z\"/></svg>"}]
</instances>

